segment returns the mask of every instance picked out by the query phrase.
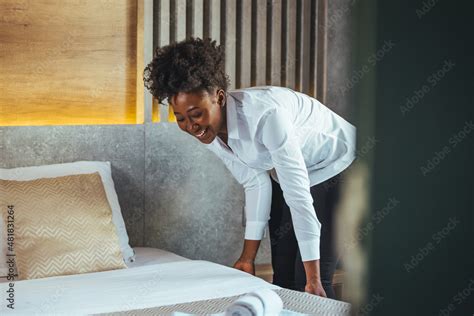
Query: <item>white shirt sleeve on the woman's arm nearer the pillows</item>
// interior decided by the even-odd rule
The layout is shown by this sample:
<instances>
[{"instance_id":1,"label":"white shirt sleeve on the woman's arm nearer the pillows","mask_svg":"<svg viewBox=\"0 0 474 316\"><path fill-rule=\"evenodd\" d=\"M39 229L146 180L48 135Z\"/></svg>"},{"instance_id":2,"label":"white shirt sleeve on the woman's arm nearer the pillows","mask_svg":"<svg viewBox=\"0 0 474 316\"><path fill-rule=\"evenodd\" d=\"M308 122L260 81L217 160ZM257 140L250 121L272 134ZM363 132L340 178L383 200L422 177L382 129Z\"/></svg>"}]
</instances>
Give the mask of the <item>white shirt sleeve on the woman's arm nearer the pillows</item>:
<instances>
[{"instance_id":1,"label":"white shirt sleeve on the woman's arm nearer the pillows","mask_svg":"<svg viewBox=\"0 0 474 316\"><path fill-rule=\"evenodd\" d=\"M236 159L221 157L245 191L245 239L261 240L270 219L272 183L265 170L256 170Z\"/></svg>"}]
</instances>

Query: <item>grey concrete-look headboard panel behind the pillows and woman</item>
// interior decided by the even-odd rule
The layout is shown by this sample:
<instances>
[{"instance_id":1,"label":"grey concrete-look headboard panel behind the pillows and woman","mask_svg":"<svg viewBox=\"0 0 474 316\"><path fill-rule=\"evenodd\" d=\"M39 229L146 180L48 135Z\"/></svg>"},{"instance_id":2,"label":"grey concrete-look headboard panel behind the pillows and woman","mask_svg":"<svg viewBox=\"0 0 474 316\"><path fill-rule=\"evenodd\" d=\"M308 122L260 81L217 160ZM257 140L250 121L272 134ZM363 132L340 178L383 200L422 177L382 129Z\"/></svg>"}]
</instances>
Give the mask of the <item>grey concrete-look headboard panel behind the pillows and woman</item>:
<instances>
[{"instance_id":1,"label":"grey concrete-look headboard panel behind the pillows and woman","mask_svg":"<svg viewBox=\"0 0 474 316\"><path fill-rule=\"evenodd\" d=\"M232 265L243 245L242 187L174 123L0 127L0 167L110 161L132 246ZM257 263L270 262L268 234Z\"/></svg>"}]
</instances>

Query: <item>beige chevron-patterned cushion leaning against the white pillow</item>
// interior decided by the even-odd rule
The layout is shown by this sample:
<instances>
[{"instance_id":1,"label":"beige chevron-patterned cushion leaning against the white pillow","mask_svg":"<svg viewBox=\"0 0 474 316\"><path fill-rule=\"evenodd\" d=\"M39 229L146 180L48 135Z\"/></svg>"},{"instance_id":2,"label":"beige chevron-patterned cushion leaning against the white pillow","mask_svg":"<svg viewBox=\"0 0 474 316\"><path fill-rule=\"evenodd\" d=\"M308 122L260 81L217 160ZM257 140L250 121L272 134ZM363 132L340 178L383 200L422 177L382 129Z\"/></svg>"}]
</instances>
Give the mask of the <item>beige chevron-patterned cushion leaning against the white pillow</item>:
<instances>
[{"instance_id":1,"label":"beige chevron-patterned cushion leaning against the white pillow","mask_svg":"<svg viewBox=\"0 0 474 316\"><path fill-rule=\"evenodd\" d=\"M8 206L20 280L126 268L98 172L0 180L4 227Z\"/></svg>"}]
</instances>

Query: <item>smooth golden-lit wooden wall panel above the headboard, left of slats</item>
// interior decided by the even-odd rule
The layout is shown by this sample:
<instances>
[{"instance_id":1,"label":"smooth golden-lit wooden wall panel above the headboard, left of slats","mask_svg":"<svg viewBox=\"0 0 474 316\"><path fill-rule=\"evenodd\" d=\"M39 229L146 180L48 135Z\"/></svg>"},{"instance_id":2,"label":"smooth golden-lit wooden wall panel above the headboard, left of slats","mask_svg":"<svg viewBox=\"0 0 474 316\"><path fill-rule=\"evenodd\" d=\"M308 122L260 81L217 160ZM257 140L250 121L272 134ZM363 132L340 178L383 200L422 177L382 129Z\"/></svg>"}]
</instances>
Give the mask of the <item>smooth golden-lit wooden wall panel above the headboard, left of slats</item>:
<instances>
[{"instance_id":1,"label":"smooth golden-lit wooden wall panel above the headboard, left of slats","mask_svg":"<svg viewBox=\"0 0 474 316\"><path fill-rule=\"evenodd\" d=\"M0 125L136 122L136 0L0 0L0 12Z\"/></svg>"}]
</instances>

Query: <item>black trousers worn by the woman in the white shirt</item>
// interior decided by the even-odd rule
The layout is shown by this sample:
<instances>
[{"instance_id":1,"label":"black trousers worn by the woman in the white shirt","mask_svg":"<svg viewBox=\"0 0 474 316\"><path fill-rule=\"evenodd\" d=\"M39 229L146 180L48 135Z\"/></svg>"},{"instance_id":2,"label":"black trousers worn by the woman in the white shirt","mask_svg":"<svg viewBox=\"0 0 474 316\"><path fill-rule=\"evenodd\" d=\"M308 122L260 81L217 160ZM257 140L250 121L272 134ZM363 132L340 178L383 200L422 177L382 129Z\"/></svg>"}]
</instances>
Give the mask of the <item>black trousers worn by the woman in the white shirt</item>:
<instances>
[{"instance_id":1,"label":"black trousers worn by the woman in the white shirt","mask_svg":"<svg viewBox=\"0 0 474 316\"><path fill-rule=\"evenodd\" d=\"M334 211L339 198L337 175L310 188L316 216L321 222L320 273L321 283L329 298L335 298L332 277L337 255L334 243ZM304 292L306 274L298 248L290 208L283 198L280 185L272 179L272 206L269 220L273 284Z\"/></svg>"}]
</instances>

